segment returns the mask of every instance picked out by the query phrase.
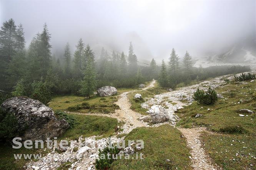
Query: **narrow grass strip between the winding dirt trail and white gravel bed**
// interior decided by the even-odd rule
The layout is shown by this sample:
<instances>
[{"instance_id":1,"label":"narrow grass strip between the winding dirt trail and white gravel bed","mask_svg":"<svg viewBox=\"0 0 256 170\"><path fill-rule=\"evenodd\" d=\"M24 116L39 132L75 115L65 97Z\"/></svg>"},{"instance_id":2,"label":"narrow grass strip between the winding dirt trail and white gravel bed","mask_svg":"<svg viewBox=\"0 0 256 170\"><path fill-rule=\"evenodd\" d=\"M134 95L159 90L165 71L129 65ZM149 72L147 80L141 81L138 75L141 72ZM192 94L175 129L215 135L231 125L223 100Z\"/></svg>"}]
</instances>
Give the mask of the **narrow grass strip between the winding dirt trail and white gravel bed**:
<instances>
[{"instance_id":1,"label":"narrow grass strip between the winding dirt trail and white gravel bed","mask_svg":"<svg viewBox=\"0 0 256 170\"><path fill-rule=\"evenodd\" d=\"M168 92L165 88L162 88L158 85L158 83L155 83L155 87L148 88L147 90L142 90L139 92L131 92L128 94L128 98L131 102L131 110L136 111L140 114L147 115L146 111L147 109L141 108L141 103L143 103L146 98L151 98L155 95ZM135 100L134 96L136 93L141 94L143 100Z\"/></svg>"}]
</instances>

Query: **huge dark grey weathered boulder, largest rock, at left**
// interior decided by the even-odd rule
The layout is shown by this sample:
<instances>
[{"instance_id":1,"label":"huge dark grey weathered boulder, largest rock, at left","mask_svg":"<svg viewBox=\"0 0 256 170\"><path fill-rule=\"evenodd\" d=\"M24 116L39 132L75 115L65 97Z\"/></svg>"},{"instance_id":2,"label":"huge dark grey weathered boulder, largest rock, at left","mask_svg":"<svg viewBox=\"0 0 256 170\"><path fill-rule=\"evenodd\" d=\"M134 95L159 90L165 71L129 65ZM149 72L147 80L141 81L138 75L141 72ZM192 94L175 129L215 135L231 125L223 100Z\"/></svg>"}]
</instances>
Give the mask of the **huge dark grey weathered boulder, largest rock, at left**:
<instances>
[{"instance_id":1,"label":"huge dark grey weathered boulder, largest rock, at left","mask_svg":"<svg viewBox=\"0 0 256 170\"><path fill-rule=\"evenodd\" d=\"M70 127L64 119L55 117L50 107L28 97L13 97L5 100L1 108L18 119L18 129L24 131L22 140L46 140L58 137Z\"/></svg>"}]
</instances>

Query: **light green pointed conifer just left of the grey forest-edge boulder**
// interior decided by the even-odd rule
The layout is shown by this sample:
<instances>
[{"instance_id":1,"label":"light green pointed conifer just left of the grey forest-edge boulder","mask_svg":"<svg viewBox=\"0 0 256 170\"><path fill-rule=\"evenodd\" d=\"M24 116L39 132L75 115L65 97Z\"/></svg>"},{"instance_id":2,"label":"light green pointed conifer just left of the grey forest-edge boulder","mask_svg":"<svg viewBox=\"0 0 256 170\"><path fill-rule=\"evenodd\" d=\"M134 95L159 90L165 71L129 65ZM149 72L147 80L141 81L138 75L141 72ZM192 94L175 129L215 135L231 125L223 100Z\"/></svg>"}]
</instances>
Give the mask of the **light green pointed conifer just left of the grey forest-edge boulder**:
<instances>
[{"instance_id":1,"label":"light green pointed conifer just left of the grey forest-edge boulder","mask_svg":"<svg viewBox=\"0 0 256 170\"><path fill-rule=\"evenodd\" d=\"M94 53L91 51L89 45L86 46L85 51L86 67L83 71L84 78L81 82L81 89L79 90L79 92L86 97L90 97L91 95L93 95L93 91L96 89Z\"/></svg>"}]
</instances>

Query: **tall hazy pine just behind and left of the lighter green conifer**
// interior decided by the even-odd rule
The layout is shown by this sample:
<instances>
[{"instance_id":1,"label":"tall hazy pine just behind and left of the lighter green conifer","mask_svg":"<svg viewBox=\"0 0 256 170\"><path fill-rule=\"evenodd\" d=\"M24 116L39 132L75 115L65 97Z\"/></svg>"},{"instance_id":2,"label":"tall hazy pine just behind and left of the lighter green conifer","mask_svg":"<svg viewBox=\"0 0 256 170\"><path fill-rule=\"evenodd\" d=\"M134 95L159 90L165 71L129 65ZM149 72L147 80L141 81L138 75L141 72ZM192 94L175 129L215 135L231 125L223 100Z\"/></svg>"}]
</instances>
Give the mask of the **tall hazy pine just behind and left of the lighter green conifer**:
<instances>
[{"instance_id":1,"label":"tall hazy pine just behind and left of the lighter green conifer","mask_svg":"<svg viewBox=\"0 0 256 170\"><path fill-rule=\"evenodd\" d=\"M81 78L82 77L82 61L84 60L84 47L85 44L83 43L83 40L80 38L77 45L76 45L76 51L74 54L74 67L73 67L73 72L76 78Z\"/></svg>"}]
</instances>

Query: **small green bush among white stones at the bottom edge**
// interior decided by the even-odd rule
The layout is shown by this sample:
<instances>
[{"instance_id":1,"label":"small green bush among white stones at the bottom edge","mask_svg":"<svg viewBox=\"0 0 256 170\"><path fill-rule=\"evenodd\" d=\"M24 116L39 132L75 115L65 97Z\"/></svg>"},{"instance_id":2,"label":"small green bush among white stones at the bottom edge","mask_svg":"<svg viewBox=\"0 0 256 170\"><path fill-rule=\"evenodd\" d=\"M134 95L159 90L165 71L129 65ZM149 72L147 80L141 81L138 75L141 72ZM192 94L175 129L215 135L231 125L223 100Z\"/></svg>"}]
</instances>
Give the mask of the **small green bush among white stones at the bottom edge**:
<instances>
[{"instance_id":1,"label":"small green bush among white stones at the bottom edge","mask_svg":"<svg viewBox=\"0 0 256 170\"><path fill-rule=\"evenodd\" d=\"M99 149L99 159L96 159L96 169L100 169L100 170L106 170L109 169L111 166L111 163L113 163L115 161L115 159L113 159L112 155L116 155L120 152L120 149L118 149L116 146L114 148L110 148L110 147L105 147L103 150ZM110 159L108 159L108 154L110 154ZM103 157L102 155L105 155L105 159L101 159L101 157Z\"/></svg>"}]
</instances>

